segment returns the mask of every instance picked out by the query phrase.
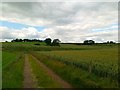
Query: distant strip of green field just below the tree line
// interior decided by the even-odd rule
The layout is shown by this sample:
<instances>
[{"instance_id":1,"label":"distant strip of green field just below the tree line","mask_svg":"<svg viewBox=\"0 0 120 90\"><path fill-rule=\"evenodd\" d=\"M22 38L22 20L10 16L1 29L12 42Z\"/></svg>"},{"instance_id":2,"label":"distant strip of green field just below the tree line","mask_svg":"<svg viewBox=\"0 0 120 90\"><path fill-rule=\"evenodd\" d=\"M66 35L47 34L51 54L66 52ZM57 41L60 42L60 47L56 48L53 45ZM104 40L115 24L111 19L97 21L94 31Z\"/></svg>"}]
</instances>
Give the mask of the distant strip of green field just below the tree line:
<instances>
[{"instance_id":1,"label":"distant strip of green field just below the tree line","mask_svg":"<svg viewBox=\"0 0 120 90\"><path fill-rule=\"evenodd\" d=\"M41 45L34 45L35 42L4 42L2 43L2 49L8 51L60 51L60 50L94 50L102 48L117 47L115 45L73 45L73 44L61 44L60 47L46 46L45 43Z\"/></svg>"}]
</instances>

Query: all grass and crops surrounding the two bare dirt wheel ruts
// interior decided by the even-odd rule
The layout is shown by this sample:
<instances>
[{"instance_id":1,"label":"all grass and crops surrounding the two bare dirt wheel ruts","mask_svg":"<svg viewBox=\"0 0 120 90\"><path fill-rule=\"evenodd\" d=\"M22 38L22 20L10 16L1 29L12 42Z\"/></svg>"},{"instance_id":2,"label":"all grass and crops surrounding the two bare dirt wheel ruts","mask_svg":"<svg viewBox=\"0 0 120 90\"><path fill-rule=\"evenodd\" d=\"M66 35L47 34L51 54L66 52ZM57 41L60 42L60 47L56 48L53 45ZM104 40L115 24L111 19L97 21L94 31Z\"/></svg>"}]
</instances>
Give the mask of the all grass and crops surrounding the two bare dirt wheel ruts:
<instances>
[{"instance_id":1,"label":"all grass and crops surrounding the two bare dirt wheel ruts","mask_svg":"<svg viewBox=\"0 0 120 90\"><path fill-rule=\"evenodd\" d=\"M117 87L117 82L109 77L99 77L93 72L74 65L67 65L64 61L75 62L78 64L102 66L97 70L108 71L112 74L118 71L118 45L73 45L61 44L60 47L46 46L40 43L39 46L34 42L13 42L2 43L2 83L3 88L23 87L23 52L30 53L41 60L49 68L55 71L61 78L71 83L74 87L80 88L113 88ZM19 56L22 53L22 57ZM57 81L50 78L45 70L38 65L30 56L30 63L34 74L38 79L40 87L61 87ZM116 77L117 78L117 77Z\"/></svg>"}]
</instances>

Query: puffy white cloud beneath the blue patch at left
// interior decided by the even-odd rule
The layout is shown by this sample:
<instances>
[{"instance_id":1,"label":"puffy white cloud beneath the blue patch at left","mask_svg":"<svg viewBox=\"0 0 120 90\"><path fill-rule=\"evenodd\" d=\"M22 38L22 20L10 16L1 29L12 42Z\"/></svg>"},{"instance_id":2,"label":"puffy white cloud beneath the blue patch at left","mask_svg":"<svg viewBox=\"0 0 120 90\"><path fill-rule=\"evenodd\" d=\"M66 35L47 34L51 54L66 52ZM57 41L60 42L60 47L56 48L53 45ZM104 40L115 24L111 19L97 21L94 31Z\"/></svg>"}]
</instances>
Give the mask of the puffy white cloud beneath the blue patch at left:
<instances>
[{"instance_id":1,"label":"puffy white cloud beneath the blue patch at left","mask_svg":"<svg viewBox=\"0 0 120 90\"><path fill-rule=\"evenodd\" d=\"M0 27L2 39L15 39L15 38L39 38L39 32L33 28L23 28L21 30L9 29L7 27Z\"/></svg>"}]
</instances>

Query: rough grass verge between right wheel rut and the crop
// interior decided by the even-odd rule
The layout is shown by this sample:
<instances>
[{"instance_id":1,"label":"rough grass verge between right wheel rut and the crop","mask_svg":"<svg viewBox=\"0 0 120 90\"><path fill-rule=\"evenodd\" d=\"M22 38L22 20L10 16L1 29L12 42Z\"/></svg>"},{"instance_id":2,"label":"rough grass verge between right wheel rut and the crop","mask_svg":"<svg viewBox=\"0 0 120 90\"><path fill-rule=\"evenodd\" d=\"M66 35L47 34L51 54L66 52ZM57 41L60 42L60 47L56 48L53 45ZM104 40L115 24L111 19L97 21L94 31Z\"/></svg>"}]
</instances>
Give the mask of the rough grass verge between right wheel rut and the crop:
<instances>
[{"instance_id":1,"label":"rough grass verge between right wheel rut and the crop","mask_svg":"<svg viewBox=\"0 0 120 90\"><path fill-rule=\"evenodd\" d=\"M33 53L39 60L45 63L48 67L53 69L64 80L71 83L74 87L79 88L112 88L117 87L115 82L111 82L108 78L99 78L96 75L86 72L82 69L75 68L74 66L65 65L57 60L37 55Z\"/></svg>"}]
</instances>

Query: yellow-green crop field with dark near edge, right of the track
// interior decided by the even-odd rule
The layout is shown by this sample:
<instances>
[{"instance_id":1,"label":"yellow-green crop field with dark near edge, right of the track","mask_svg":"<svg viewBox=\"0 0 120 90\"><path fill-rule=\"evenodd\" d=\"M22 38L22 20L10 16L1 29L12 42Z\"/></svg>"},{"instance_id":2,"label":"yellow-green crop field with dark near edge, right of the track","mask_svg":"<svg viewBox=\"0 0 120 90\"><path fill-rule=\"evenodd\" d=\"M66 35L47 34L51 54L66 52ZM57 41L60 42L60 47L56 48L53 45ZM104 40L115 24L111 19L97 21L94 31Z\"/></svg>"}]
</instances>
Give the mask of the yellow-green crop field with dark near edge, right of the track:
<instances>
[{"instance_id":1,"label":"yellow-green crop field with dark near edge, right of the track","mask_svg":"<svg viewBox=\"0 0 120 90\"><path fill-rule=\"evenodd\" d=\"M118 48L112 47L102 50L63 50L37 52L49 56L50 58L62 61L63 63L86 69L99 76L118 79ZM91 67L91 68L90 68Z\"/></svg>"}]
</instances>

